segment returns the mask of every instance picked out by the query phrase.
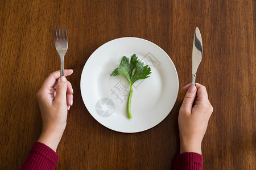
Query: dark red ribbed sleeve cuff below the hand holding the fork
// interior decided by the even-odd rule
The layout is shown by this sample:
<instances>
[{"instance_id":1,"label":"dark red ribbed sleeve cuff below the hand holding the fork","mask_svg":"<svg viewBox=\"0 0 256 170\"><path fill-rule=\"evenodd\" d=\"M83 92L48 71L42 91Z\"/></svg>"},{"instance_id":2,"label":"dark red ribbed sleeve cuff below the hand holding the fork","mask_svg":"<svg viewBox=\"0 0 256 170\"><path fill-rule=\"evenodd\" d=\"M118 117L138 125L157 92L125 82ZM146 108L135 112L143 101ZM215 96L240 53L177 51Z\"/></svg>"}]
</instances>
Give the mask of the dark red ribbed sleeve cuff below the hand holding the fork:
<instances>
[{"instance_id":1,"label":"dark red ribbed sleeve cuff below the hand holding the fork","mask_svg":"<svg viewBox=\"0 0 256 170\"><path fill-rule=\"evenodd\" d=\"M59 155L48 146L35 142L20 169L55 169Z\"/></svg>"}]
</instances>

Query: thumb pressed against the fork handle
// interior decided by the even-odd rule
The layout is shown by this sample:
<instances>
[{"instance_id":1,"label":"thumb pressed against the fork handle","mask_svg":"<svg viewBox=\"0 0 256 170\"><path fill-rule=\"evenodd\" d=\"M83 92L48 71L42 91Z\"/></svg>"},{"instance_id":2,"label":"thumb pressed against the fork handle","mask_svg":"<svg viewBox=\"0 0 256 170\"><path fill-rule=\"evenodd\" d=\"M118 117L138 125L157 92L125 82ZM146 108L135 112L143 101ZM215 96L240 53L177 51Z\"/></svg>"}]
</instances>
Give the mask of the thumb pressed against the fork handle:
<instances>
[{"instance_id":1,"label":"thumb pressed against the fork handle","mask_svg":"<svg viewBox=\"0 0 256 170\"><path fill-rule=\"evenodd\" d=\"M61 76L58 79L57 86L56 86L56 97L55 102L57 103L67 103L67 78L65 76Z\"/></svg>"}]
</instances>

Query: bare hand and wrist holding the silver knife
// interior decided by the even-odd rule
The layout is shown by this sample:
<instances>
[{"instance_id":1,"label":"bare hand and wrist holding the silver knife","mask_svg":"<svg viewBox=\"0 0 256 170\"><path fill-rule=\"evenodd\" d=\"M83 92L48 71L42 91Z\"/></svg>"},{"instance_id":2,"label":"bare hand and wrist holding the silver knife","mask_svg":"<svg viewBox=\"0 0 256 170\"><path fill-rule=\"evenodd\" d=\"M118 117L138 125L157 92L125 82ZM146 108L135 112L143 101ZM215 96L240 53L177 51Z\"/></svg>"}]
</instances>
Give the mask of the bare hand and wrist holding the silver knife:
<instances>
[{"instance_id":1,"label":"bare hand and wrist holding the silver knife","mask_svg":"<svg viewBox=\"0 0 256 170\"><path fill-rule=\"evenodd\" d=\"M179 113L180 153L201 154L201 143L207 130L213 107L208 100L207 90L199 83L183 87L187 91ZM194 104L194 105L193 105Z\"/></svg>"}]
</instances>

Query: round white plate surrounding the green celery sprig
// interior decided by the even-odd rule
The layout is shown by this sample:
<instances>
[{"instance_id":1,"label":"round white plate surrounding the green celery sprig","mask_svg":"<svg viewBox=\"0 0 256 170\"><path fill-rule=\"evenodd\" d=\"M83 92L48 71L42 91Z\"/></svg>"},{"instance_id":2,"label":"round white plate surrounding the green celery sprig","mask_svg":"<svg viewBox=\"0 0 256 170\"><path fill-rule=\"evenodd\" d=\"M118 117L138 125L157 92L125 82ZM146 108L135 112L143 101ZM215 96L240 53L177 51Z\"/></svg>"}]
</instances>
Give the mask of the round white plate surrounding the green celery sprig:
<instances>
[{"instance_id":1,"label":"round white plate surrounding the green celery sprig","mask_svg":"<svg viewBox=\"0 0 256 170\"><path fill-rule=\"evenodd\" d=\"M136 54L151 67L151 76L133 84L131 114L126 105L129 83L110 76L123 56ZM106 42L89 57L81 75L81 95L90 114L100 124L124 133L135 133L154 127L166 118L177 99L179 80L174 63L154 43L135 37Z\"/></svg>"}]
</instances>

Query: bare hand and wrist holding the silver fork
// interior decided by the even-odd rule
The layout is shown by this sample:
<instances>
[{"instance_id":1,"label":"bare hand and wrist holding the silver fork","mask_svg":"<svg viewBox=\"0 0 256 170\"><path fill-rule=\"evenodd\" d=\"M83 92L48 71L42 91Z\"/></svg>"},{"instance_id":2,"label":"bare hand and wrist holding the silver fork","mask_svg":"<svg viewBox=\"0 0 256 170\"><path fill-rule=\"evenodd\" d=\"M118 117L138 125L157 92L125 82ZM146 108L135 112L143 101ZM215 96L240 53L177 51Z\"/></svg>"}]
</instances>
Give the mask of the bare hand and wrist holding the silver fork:
<instances>
[{"instance_id":1,"label":"bare hand and wrist holding the silver fork","mask_svg":"<svg viewBox=\"0 0 256 170\"><path fill-rule=\"evenodd\" d=\"M73 70L64 70L66 76ZM38 142L56 151L67 124L67 114L73 104L72 85L60 70L51 73L36 94L42 114L43 129Z\"/></svg>"}]
</instances>

